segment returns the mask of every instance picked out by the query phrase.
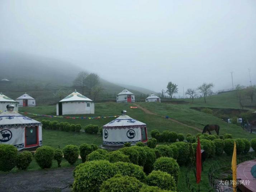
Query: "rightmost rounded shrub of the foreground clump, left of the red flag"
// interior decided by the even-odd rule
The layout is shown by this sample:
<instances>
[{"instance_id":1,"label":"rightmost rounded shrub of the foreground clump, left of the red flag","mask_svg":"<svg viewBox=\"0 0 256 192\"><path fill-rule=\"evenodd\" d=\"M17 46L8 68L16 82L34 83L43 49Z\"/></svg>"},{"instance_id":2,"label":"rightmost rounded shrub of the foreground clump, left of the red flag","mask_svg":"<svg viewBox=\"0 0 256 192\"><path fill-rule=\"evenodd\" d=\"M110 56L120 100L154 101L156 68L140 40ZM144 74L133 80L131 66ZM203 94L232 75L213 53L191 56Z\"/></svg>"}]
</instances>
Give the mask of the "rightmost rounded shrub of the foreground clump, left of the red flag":
<instances>
[{"instance_id":1,"label":"rightmost rounded shrub of the foreground clump, left of the red flag","mask_svg":"<svg viewBox=\"0 0 256 192\"><path fill-rule=\"evenodd\" d=\"M158 158L154 163L154 170L167 172L174 177L176 182L178 181L180 166L174 158L169 158L169 157Z\"/></svg>"}]
</instances>

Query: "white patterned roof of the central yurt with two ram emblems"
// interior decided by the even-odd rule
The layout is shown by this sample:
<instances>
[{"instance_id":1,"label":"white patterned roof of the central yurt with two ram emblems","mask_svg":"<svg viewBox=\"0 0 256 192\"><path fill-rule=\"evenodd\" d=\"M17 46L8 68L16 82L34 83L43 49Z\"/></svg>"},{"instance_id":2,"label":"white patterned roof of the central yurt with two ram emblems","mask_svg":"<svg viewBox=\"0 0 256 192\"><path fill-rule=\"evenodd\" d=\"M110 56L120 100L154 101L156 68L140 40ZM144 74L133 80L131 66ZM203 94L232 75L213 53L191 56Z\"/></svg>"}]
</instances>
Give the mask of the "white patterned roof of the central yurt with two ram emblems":
<instances>
[{"instance_id":1,"label":"white patterned roof of the central yurt with two ram emblems","mask_svg":"<svg viewBox=\"0 0 256 192\"><path fill-rule=\"evenodd\" d=\"M114 119L113 121L109 122L106 125L103 125L103 128L105 129L125 129L125 128L139 128L139 127L145 127L146 124L142 123L141 121L138 121L136 119L133 119L132 117L128 115L121 115L117 117L117 119Z\"/></svg>"}]
</instances>

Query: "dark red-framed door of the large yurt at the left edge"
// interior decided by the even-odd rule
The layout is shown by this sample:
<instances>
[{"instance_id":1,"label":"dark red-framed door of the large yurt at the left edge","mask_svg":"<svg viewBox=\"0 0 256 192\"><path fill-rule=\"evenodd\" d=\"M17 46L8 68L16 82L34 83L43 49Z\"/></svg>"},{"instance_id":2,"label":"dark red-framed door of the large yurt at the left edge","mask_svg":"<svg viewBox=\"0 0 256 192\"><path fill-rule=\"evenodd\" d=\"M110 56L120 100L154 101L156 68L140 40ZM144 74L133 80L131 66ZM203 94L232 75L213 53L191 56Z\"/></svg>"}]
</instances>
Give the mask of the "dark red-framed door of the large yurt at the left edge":
<instances>
[{"instance_id":1,"label":"dark red-framed door of the large yurt at the left edge","mask_svg":"<svg viewBox=\"0 0 256 192\"><path fill-rule=\"evenodd\" d=\"M38 126L25 127L25 148L39 145ZM35 140L36 139L36 140Z\"/></svg>"}]
</instances>

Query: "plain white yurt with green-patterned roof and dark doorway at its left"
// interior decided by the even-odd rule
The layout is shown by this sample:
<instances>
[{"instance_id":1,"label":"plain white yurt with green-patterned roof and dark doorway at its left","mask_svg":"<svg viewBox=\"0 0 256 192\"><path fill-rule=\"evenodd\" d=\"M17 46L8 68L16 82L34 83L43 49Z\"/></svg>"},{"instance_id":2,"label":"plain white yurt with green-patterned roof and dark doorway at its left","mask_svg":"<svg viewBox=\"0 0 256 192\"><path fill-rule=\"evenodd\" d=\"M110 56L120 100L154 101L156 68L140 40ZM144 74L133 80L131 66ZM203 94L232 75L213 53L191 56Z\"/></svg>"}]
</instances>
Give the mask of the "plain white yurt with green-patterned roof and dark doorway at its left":
<instances>
[{"instance_id":1,"label":"plain white yurt with green-patterned roof and dark doorway at its left","mask_svg":"<svg viewBox=\"0 0 256 192\"><path fill-rule=\"evenodd\" d=\"M60 100L57 105L57 115L94 114L94 102L81 93L75 92Z\"/></svg>"}]
</instances>

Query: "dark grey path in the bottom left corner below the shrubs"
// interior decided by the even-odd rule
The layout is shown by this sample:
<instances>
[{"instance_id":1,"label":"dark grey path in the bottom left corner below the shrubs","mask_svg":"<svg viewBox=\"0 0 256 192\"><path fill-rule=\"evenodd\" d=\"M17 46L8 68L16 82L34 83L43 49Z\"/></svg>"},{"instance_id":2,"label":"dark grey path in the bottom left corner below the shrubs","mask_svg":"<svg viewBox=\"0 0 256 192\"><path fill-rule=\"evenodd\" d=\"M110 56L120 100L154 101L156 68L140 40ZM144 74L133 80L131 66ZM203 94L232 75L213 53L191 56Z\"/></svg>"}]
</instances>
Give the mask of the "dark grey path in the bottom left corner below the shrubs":
<instances>
[{"instance_id":1,"label":"dark grey path in the bottom left corner below the shrubs","mask_svg":"<svg viewBox=\"0 0 256 192\"><path fill-rule=\"evenodd\" d=\"M70 192L74 182L74 167L22 171L0 174L0 191L2 192L39 192L61 191Z\"/></svg>"}]
</instances>

